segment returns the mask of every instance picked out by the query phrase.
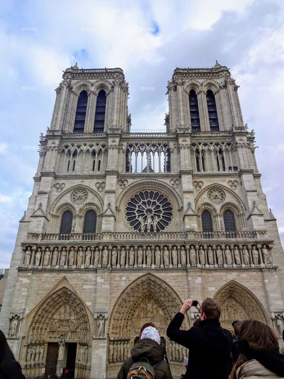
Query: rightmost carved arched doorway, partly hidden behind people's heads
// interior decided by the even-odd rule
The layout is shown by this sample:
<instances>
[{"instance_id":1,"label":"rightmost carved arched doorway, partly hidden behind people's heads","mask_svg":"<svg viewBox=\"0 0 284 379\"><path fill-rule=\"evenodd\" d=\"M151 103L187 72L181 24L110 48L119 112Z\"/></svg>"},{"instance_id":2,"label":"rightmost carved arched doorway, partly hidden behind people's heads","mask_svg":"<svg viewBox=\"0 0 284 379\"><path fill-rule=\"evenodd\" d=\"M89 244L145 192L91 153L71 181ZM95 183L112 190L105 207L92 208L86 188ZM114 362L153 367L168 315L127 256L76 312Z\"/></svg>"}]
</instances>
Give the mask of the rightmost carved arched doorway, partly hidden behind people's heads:
<instances>
[{"instance_id":1,"label":"rightmost carved arched doorway, partly hidden behind people's heads","mask_svg":"<svg viewBox=\"0 0 284 379\"><path fill-rule=\"evenodd\" d=\"M221 326L233 332L232 322L236 319L255 318L270 325L261 302L242 284L231 280L214 295L221 306Z\"/></svg>"}]
</instances>

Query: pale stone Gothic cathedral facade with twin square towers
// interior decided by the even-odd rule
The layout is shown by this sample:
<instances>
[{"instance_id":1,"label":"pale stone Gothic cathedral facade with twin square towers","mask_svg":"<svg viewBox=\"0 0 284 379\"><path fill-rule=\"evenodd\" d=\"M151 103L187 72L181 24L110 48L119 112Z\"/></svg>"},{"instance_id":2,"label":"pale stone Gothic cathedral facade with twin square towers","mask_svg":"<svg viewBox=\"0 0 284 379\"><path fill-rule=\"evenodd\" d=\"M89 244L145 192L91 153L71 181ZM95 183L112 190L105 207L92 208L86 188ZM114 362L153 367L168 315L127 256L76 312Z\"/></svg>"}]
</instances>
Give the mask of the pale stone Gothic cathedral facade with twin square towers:
<instances>
[{"instance_id":1,"label":"pale stone Gothic cathedral facade with twin square towers","mask_svg":"<svg viewBox=\"0 0 284 379\"><path fill-rule=\"evenodd\" d=\"M114 378L152 322L178 378L166 328L187 298L280 338L283 250L228 68L175 69L164 133L131 132L120 68L76 64L55 91L0 312L23 373Z\"/></svg>"}]
</instances>

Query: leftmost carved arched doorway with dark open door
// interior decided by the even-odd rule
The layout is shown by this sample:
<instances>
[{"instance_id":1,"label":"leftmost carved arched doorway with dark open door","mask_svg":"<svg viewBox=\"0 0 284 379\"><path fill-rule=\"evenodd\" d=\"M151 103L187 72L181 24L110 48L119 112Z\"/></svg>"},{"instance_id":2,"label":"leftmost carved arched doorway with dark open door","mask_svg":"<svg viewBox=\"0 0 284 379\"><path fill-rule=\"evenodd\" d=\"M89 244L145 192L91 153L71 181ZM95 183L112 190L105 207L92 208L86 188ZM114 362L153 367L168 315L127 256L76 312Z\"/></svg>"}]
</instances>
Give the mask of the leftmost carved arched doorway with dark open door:
<instances>
[{"instance_id":1,"label":"leftmost carved arched doorway with dark open door","mask_svg":"<svg viewBox=\"0 0 284 379\"><path fill-rule=\"evenodd\" d=\"M83 302L61 287L39 304L28 328L25 374L36 377L71 370L72 376L89 376L89 317ZM28 315L29 316L29 315Z\"/></svg>"}]
</instances>

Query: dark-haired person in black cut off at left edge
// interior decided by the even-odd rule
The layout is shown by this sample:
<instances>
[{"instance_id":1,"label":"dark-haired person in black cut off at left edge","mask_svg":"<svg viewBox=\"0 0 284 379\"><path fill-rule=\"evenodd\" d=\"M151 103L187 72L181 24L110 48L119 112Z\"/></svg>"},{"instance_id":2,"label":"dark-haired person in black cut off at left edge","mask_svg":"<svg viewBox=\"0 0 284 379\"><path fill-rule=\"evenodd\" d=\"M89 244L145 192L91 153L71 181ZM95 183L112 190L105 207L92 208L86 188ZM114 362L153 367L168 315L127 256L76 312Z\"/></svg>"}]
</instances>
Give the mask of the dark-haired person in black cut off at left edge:
<instances>
[{"instance_id":1,"label":"dark-haired person in black cut off at left edge","mask_svg":"<svg viewBox=\"0 0 284 379\"><path fill-rule=\"evenodd\" d=\"M25 379L20 363L16 361L2 330L0 330L0 377L1 379Z\"/></svg>"}]
</instances>

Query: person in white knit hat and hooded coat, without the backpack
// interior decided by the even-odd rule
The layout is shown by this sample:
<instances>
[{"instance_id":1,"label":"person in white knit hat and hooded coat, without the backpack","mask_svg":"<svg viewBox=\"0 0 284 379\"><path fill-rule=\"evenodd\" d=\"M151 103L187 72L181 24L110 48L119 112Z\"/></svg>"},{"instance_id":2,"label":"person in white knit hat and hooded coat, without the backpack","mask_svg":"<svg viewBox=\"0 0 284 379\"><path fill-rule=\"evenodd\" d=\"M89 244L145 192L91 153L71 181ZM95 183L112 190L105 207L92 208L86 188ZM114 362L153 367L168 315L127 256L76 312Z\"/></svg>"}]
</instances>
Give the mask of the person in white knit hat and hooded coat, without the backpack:
<instances>
[{"instance_id":1,"label":"person in white knit hat and hooded coat, without the backpack","mask_svg":"<svg viewBox=\"0 0 284 379\"><path fill-rule=\"evenodd\" d=\"M173 379L170 366L164 360L164 349L161 346L161 338L154 324L144 324L140 330L140 339L131 349L131 357L123 362L117 379L127 379L128 371L135 362L147 358L150 365L158 365L154 368L155 379Z\"/></svg>"}]
</instances>

